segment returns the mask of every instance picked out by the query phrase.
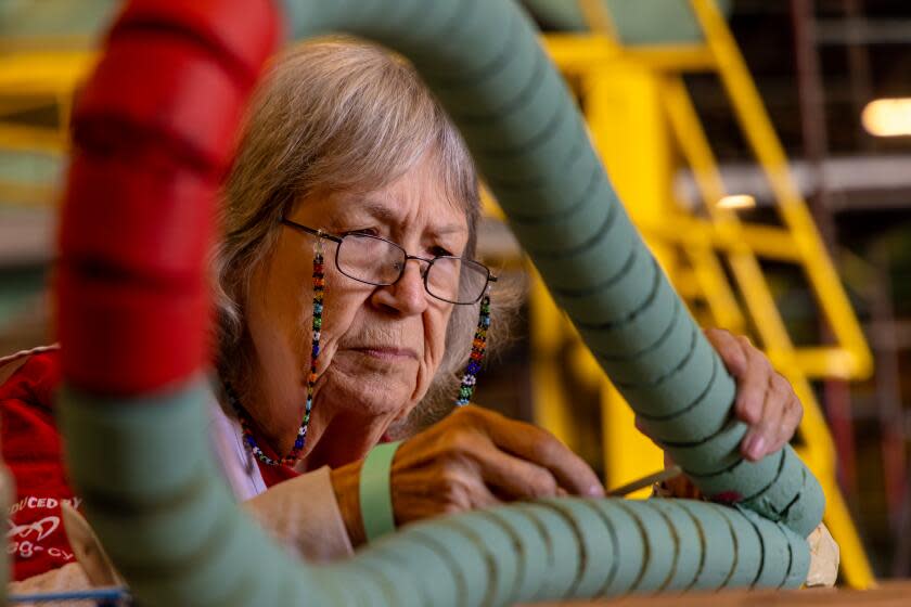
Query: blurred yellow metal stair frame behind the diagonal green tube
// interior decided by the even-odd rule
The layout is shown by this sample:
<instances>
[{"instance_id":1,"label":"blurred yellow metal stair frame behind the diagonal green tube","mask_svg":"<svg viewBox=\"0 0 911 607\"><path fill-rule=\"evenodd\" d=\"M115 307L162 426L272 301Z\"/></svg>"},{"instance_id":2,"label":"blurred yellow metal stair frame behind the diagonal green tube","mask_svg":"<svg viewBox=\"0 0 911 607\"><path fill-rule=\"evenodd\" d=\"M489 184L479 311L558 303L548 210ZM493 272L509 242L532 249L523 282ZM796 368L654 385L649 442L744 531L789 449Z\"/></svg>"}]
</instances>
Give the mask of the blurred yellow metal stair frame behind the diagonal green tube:
<instances>
[{"instance_id":1,"label":"blurred yellow metal stair frame behind the diagonal green tube","mask_svg":"<svg viewBox=\"0 0 911 607\"><path fill-rule=\"evenodd\" d=\"M691 7L703 43L624 46L602 0L582 0L592 34L549 35L546 44L579 95L620 198L675 286L684 299L707 310L710 324L749 333L794 386L805 406L798 452L827 495L825 521L842 547L844 579L851 586L868 587L874 583L872 571L835 480L834 444L810 379L867 377L872 357L727 22L711 0L691 0ZM771 185L780 227L741 221L718 205L729 192L683 83L683 76L691 73L720 79ZM693 176L702 202L698 208L676 199L673 176L681 165ZM804 270L831 327L833 345L795 346L760 259ZM565 396L565 378L574 378L601 393L608 486L662 467L660 451L633 429L629 408L540 283L533 288L530 311L536 421L578 447L579 422ZM577 350L569 357L567 344ZM557 360L572 362L557 370Z\"/></svg>"}]
</instances>

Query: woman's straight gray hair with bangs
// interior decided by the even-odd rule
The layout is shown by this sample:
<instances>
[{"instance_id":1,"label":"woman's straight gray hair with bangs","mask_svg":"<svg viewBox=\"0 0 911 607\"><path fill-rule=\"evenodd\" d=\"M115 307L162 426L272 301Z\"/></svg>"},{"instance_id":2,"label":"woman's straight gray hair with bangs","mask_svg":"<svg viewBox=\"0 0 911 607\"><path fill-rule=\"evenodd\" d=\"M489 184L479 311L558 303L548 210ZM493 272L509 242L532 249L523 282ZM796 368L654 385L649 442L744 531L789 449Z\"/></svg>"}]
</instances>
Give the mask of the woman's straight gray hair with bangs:
<instances>
[{"instance_id":1,"label":"woman's straight gray hair with bangs","mask_svg":"<svg viewBox=\"0 0 911 607\"><path fill-rule=\"evenodd\" d=\"M219 371L247 361L244 305L274 250L280 219L313 192L381 189L431 154L447 197L465 211L474 256L480 214L465 144L415 70L376 47L333 38L284 53L255 93L228 179L214 256ZM471 349L476 306L454 306L429 391L451 391ZM438 409L438 406L437 406Z\"/></svg>"}]
</instances>

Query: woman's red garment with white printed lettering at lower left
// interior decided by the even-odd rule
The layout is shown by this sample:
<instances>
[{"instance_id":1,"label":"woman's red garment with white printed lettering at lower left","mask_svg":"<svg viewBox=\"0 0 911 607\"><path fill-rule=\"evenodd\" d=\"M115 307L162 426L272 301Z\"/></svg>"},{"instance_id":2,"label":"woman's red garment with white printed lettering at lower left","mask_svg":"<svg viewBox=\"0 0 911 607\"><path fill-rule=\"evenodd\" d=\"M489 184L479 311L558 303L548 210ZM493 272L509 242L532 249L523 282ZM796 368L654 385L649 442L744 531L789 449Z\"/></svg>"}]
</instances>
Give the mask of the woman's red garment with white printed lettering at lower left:
<instances>
[{"instance_id":1,"label":"woman's red garment with white printed lettering at lower left","mask_svg":"<svg viewBox=\"0 0 911 607\"><path fill-rule=\"evenodd\" d=\"M9 554L13 579L25 580L75 561L61 518L61 503L79 507L63 465L53 393L61 382L60 352L28 357L0 385L0 440L16 487L9 511ZM297 473L260 464L266 487Z\"/></svg>"}]
</instances>

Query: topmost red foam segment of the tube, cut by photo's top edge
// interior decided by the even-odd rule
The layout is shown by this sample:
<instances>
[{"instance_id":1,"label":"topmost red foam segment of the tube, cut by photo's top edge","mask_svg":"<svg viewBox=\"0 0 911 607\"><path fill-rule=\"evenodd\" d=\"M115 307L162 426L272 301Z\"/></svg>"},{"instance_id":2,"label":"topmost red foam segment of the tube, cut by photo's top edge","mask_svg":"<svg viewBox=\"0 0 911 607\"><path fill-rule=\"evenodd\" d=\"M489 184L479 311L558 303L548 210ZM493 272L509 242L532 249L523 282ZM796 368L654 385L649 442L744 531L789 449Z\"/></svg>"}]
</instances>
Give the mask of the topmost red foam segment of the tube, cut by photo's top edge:
<instances>
[{"instance_id":1,"label":"topmost red foam segment of the tube, cut by photo's top edge","mask_svg":"<svg viewBox=\"0 0 911 607\"><path fill-rule=\"evenodd\" d=\"M179 29L213 49L251 87L262 63L278 48L279 15L274 0L133 0L114 26Z\"/></svg>"}]
</instances>

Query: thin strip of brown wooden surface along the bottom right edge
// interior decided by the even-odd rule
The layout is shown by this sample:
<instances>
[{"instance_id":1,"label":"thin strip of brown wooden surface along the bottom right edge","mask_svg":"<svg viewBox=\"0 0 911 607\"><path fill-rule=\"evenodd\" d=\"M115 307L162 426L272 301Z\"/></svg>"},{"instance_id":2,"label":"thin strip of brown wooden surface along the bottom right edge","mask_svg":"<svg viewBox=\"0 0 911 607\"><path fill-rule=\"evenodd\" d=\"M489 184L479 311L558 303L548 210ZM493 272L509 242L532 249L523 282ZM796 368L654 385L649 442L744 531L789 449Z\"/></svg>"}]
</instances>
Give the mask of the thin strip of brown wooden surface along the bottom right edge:
<instances>
[{"instance_id":1,"label":"thin strip of brown wooden surface along the bottom right edge","mask_svg":"<svg viewBox=\"0 0 911 607\"><path fill-rule=\"evenodd\" d=\"M837 607L858 605L871 607L911 607L911 580L884 582L876 590L849 591L813 589L788 592L720 592L714 594L685 594L666 596L637 596L617 600L551 603L557 606L604 607Z\"/></svg>"}]
</instances>

